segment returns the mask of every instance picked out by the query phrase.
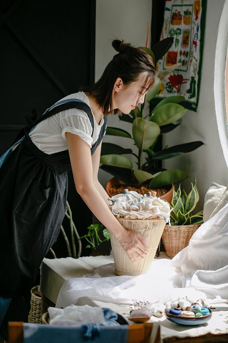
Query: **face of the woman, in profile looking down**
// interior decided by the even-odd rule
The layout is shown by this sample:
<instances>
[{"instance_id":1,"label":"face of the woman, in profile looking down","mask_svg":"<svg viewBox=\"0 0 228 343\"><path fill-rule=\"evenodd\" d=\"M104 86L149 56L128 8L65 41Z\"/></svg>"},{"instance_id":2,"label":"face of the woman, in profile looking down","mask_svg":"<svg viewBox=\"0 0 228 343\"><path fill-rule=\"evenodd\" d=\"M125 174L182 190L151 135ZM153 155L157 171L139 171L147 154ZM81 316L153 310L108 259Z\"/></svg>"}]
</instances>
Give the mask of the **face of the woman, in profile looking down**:
<instances>
[{"instance_id":1,"label":"face of the woman, in profile looking down","mask_svg":"<svg viewBox=\"0 0 228 343\"><path fill-rule=\"evenodd\" d=\"M118 108L122 113L128 114L137 105L137 100L145 82L146 72L142 73L137 81L124 85L121 78L117 78L112 91L113 109ZM143 91L138 103L142 104L147 92Z\"/></svg>"}]
</instances>

